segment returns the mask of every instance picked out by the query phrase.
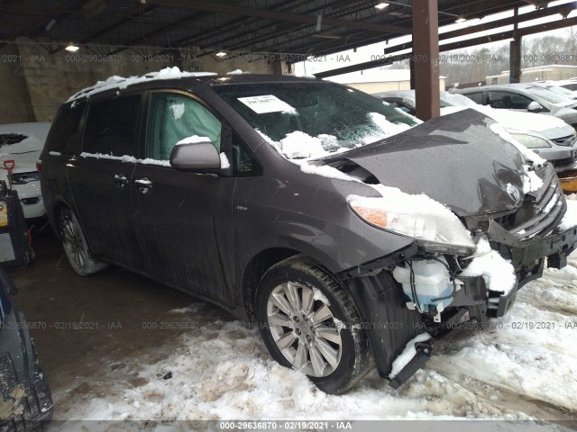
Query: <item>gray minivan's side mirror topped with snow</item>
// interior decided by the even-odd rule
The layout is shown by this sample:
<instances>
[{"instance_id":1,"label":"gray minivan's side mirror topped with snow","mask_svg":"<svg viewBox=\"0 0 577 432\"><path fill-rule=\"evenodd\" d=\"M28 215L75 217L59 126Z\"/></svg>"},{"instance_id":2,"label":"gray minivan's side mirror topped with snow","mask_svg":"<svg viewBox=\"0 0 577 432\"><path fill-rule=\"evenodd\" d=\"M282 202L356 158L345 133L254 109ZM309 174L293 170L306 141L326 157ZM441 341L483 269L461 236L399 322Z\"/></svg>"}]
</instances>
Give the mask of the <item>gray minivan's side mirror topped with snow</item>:
<instances>
[{"instance_id":1,"label":"gray minivan's side mirror topped with snow","mask_svg":"<svg viewBox=\"0 0 577 432\"><path fill-rule=\"evenodd\" d=\"M170 152L170 166L183 171L220 168L220 155L212 142L178 144Z\"/></svg>"}]
</instances>

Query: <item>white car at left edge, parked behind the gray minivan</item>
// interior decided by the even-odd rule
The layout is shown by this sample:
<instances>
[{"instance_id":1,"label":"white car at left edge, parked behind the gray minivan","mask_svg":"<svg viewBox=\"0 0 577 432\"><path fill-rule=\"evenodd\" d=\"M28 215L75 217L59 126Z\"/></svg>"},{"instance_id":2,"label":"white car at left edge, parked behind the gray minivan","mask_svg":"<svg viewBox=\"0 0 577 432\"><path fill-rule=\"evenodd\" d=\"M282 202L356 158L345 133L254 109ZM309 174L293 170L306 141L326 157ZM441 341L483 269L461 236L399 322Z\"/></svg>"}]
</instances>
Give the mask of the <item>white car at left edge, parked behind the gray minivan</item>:
<instances>
[{"instance_id":1,"label":"white car at left edge, parked behind the gray minivan","mask_svg":"<svg viewBox=\"0 0 577 432\"><path fill-rule=\"evenodd\" d=\"M46 213L36 161L49 130L50 123L41 122L0 125L0 180L8 184L5 160L14 160L12 184L26 219L40 218Z\"/></svg>"}]
</instances>

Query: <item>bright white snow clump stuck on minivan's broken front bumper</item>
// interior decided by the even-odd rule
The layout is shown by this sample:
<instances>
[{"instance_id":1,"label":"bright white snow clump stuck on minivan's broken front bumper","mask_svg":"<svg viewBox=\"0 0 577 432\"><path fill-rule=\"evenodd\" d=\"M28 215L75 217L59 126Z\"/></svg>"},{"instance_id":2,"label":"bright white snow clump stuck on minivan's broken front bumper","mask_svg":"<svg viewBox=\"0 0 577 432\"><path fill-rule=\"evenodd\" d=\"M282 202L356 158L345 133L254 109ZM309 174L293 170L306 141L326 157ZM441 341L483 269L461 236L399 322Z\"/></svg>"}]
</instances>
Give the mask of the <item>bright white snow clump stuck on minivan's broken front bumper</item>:
<instances>
[{"instance_id":1,"label":"bright white snow clump stuck on minivan's broken front bumper","mask_svg":"<svg viewBox=\"0 0 577 432\"><path fill-rule=\"evenodd\" d=\"M483 276L488 290L505 294L517 283L515 268L499 252L491 249L486 238L479 240L471 263L460 276Z\"/></svg>"}]
</instances>

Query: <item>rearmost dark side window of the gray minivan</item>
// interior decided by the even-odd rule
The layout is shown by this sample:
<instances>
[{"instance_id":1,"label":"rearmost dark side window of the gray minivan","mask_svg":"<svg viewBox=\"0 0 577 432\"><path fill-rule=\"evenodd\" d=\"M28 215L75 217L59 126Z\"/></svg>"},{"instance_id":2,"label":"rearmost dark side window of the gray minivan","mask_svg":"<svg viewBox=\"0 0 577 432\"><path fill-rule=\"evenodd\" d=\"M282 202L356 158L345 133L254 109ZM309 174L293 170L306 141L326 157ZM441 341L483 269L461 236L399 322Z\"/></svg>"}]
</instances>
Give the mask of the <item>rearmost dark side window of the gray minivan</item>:
<instances>
[{"instance_id":1,"label":"rearmost dark side window of the gray minivan","mask_svg":"<svg viewBox=\"0 0 577 432\"><path fill-rule=\"evenodd\" d=\"M60 108L46 141L47 151L57 151L65 155L74 153L82 137L80 120L84 106L85 103L73 103Z\"/></svg>"}]
</instances>

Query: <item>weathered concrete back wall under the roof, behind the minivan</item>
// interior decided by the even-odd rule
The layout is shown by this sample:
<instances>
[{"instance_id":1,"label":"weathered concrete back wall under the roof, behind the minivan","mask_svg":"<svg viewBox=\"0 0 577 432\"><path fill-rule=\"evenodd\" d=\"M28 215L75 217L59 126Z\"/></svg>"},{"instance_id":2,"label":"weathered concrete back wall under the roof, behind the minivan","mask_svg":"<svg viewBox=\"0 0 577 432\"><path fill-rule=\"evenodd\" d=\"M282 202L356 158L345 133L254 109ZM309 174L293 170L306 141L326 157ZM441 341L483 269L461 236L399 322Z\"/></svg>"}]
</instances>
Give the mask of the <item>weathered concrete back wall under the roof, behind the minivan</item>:
<instances>
[{"instance_id":1,"label":"weathered concrete back wall under the roof, behind the minivan","mask_svg":"<svg viewBox=\"0 0 577 432\"><path fill-rule=\"evenodd\" d=\"M147 56L124 50L105 57L85 47L76 53L61 50L50 55L46 49L29 40L19 40L17 45L9 47L19 56L19 62L0 64L0 124L53 121L60 104L71 94L108 76L139 76L172 66L220 74L234 69L261 74L286 70L286 66L279 67L266 60L216 59L209 55L196 58L179 51ZM3 52L8 52L8 49L0 50L0 54Z\"/></svg>"}]
</instances>

